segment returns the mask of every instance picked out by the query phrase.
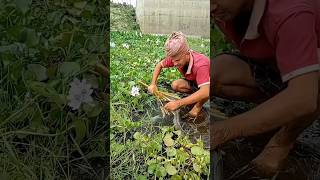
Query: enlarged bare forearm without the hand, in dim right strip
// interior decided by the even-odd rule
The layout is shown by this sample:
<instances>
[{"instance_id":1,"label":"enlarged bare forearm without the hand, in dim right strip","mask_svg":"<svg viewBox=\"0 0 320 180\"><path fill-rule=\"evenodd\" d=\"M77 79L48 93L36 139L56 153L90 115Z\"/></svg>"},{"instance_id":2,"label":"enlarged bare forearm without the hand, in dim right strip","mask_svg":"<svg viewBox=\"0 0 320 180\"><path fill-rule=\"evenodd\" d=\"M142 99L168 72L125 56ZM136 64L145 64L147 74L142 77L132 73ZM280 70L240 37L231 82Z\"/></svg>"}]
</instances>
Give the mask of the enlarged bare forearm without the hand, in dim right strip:
<instances>
[{"instance_id":1,"label":"enlarged bare forearm without the hand, in dim right strip","mask_svg":"<svg viewBox=\"0 0 320 180\"><path fill-rule=\"evenodd\" d=\"M239 133L234 135L236 138L267 132L310 116L317 109L317 81L306 79L303 84L289 84L278 95L251 111L230 118L224 125L239 129Z\"/></svg>"}]
</instances>

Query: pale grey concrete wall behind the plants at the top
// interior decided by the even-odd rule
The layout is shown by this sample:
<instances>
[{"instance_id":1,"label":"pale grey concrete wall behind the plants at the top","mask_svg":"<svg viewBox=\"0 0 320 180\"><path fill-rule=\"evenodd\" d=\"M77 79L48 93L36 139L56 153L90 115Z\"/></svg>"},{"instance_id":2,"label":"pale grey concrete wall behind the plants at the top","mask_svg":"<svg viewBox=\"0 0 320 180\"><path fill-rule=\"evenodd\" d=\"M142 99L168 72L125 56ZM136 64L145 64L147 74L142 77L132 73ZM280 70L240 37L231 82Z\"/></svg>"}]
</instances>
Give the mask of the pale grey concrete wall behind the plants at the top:
<instances>
[{"instance_id":1,"label":"pale grey concrete wall behind the plants at the top","mask_svg":"<svg viewBox=\"0 0 320 180\"><path fill-rule=\"evenodd\" d=\"M137 0L136 16L143 33L210 37L210 0Z\"/></svg>"}]
</instances>

